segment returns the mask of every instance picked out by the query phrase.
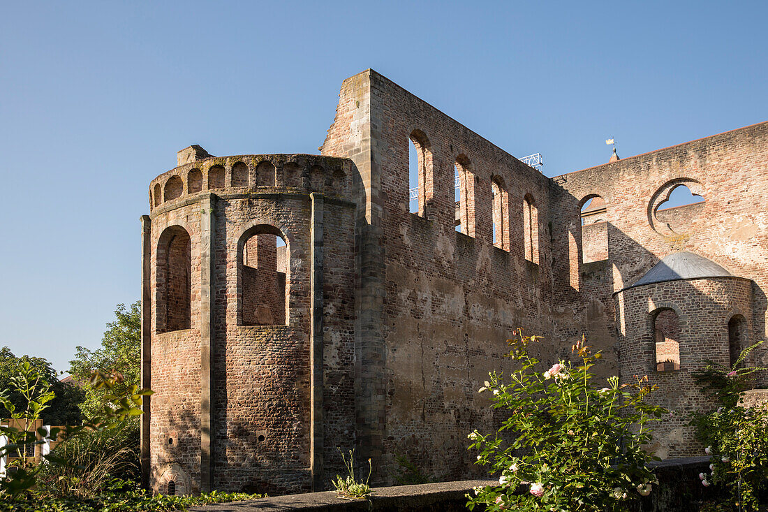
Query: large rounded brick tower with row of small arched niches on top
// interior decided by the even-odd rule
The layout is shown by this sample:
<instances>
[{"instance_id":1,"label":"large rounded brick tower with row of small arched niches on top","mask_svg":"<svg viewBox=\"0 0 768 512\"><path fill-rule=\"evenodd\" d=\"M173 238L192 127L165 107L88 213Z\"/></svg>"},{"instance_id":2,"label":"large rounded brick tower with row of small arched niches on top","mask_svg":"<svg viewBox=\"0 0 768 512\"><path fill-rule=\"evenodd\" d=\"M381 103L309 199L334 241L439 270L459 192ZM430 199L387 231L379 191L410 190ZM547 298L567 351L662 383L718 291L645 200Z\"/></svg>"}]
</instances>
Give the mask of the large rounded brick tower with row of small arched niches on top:
<instances>
[{"instance_id":1,"label":"large rounded brick tower with row of small arched niches on top","mask_svg":"<svg viewBox=\"0 0 768 512\"><path fill-rule=\"evenodd\" d=\"M324 446L349 444L354 401L324 408L323 381L354 396L353 171L191 146L151 181L141 448L156 492L310 490Z\"/></svg>"}]
</instances>

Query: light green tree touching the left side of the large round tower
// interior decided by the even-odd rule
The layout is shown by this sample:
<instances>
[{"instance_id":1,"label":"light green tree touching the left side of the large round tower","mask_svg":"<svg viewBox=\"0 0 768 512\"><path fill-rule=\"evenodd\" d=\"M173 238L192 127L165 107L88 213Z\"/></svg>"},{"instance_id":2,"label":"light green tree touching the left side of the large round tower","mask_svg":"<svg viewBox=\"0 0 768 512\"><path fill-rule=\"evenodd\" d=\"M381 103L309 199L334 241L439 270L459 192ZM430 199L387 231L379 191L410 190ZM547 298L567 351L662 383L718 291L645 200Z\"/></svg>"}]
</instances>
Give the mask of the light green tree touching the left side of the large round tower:
<instances>
[{"instance_id":1,"label":"light green tree touching the left side of the large round tower","mask_svg":"<svg viewBox=\"0 0 768 512\"><path fill-rule=\"evenodd\" d=\"M114 311L116 319L107 324L107 331L101 338L101 348L91 351L78 347L74 359L69 361L69 373L82 383L85 400L82 404L84 414L94 414L104 404L108 391L88 385L88 379L94 371L104 374L116 373L123 377L115 384L112 394L122 394L131 386L139 385L141 364L141 310L136 301L129 308L118 304Z\"/></svg>"}]
</instances>

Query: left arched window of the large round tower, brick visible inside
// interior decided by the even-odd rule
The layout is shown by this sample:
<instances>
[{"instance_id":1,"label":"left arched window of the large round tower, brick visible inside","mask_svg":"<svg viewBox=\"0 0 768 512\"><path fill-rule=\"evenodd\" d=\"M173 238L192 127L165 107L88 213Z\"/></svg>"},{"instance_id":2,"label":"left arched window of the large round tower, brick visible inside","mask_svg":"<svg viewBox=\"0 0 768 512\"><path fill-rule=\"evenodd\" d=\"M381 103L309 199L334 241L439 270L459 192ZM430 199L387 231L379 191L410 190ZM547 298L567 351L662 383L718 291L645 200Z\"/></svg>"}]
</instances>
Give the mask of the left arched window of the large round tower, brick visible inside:
<instances>
[{"instance_id":1,"label":"left arched window of the large round tower, brick visible inside","mask_svg":"<svg viewBox=\"0 0 768 512\"><path fill-rule=\"evenodd\" d=\"M190 328L190 235L181 226L163 231L157 244L157 332Z\"/></svg>"}]
</instances>

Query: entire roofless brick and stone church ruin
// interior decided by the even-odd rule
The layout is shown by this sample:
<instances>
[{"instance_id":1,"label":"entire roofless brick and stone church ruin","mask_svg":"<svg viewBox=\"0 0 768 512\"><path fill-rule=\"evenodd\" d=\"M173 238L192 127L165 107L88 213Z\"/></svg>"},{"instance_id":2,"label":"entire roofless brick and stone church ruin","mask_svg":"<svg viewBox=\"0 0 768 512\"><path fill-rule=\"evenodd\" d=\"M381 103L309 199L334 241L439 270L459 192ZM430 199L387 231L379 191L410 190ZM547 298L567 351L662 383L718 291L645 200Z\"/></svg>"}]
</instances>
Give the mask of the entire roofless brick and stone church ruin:
<instances>
[{"instance_id":1,"label":"entire roofless brick and stone church ruin","mask_svg":"<svg viewBox=\"0 0 768 512\"><path fill-rule=\"evenodd\" d=\"M691 371L765 337L768 123L547 178L368 70L343 81L319 150L191 146L151 181L141 447L156 491L322 490L352 448L376 484L397 455L478 476L467 433L503 417L478 387L511 368L516 327L545 337L546 364L585 334L602 377L647 374L680 413L711 405ZM703 201L665 208L683 186ZM654 449L700 454L681 415Z\"/></svg>"}]
</instances>

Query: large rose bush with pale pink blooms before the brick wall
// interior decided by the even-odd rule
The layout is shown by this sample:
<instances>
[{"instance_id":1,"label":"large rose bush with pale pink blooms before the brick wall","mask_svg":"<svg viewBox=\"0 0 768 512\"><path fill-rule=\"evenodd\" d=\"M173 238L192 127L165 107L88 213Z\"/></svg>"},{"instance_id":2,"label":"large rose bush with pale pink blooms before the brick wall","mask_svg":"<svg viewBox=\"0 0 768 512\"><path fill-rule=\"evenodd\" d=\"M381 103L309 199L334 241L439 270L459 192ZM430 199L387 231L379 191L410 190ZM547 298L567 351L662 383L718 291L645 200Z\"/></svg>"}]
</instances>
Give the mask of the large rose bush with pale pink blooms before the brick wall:
<instances>
[{"instance_id":1,"label":"large rose bush with pale pink blooms before the brick wall","mask_svg":"<svg viewBox=\"0 0 768 512\"><path fill-rule=\"evenodd\" d=\"M538 339L516 331L508 355L520 368L508 384L494 372L480 388L509 417L494 434L468 435L469 448L479 452L476 464L499 477L498 486L468 494L468 508L626 510L627 500L657 484L647 463L658 459L644 450L649 422L665 412L646 401L654 388L647 377L632 385L611 377L608 387L596 389L591 368L601 354L591 354L583 341L573 347L576 364L560 362L542 373L528 353Z\"/></svg>"}]
</instances>

